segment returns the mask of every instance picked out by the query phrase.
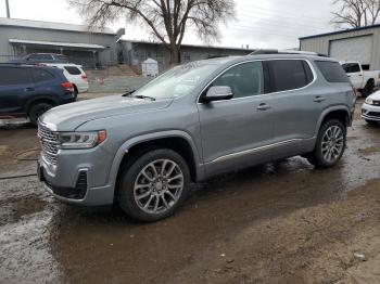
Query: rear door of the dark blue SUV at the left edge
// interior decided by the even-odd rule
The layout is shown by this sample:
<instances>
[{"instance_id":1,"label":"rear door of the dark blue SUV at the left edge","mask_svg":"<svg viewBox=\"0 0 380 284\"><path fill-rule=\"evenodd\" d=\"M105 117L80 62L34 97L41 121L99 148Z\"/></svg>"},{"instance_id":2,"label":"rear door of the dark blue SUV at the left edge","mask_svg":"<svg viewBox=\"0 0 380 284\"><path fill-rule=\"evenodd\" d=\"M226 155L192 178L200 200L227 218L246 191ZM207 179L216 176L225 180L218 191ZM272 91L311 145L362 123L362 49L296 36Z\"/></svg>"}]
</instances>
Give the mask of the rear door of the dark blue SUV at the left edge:
<instances>
[{"instance_id":1,"label":"rear door of the dark blue SUV at the left edge","mask_svg":"<svg viewBox=\"0 0 380 284\"><path fill-rule=\"evenodd\" d=\"M25 104L35 93L29 68L0 66L0 115L25 114Z\"/></svg>"}]
</instances>

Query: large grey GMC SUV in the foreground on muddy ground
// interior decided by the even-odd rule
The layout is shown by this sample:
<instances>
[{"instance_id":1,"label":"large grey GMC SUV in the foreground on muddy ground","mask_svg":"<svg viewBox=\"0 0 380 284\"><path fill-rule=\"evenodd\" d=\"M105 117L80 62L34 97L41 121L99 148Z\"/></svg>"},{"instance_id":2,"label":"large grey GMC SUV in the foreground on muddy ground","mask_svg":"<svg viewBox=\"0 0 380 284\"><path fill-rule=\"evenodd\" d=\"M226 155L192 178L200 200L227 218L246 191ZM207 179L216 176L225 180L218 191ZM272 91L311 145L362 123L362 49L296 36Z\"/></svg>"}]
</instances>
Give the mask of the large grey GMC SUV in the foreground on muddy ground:
<instances>
[{"instance_id":1,"label":"large grey GMC SUV in the foreground on muddy ground","mask_svg":"<svg viewBox=\"0 0 380 284\"><path fill-rule=\"evenodd\" d=\"M341 158L355 94L338 62L250 55L178 66L124 95L55 107L39 120L38 173L56 198L118 204L155 221L189 184L302 155Z\"/></svg>"}]
</instances>

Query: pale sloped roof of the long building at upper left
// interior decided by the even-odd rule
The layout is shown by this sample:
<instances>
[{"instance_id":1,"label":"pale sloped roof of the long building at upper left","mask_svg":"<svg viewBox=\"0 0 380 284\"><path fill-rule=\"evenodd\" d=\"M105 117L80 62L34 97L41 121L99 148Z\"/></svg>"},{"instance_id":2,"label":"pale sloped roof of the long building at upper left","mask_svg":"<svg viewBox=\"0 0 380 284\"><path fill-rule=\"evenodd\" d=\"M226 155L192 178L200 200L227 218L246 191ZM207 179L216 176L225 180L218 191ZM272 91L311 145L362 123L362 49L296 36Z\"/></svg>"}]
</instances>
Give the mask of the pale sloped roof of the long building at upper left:
<instances>
[{"instance_id":1,"label":"pale sloped roof of the long building at upper left","mask_svg":"<svg viewBox=\"0 0 380 284\"><path fill-rule=\"evenodd\" d=\"M68 30L68 31L79 31L79 33L90 31L94 34L116 35L115 31L106 27L89 29L89 26L86 26L86 25L74 25L74 24L42 22L42 21L22 20L22 18L8 18L8 17L0 17L0 26L54 29L54 30L65 30L65 31Z\"/></svg>"}]
</instances>

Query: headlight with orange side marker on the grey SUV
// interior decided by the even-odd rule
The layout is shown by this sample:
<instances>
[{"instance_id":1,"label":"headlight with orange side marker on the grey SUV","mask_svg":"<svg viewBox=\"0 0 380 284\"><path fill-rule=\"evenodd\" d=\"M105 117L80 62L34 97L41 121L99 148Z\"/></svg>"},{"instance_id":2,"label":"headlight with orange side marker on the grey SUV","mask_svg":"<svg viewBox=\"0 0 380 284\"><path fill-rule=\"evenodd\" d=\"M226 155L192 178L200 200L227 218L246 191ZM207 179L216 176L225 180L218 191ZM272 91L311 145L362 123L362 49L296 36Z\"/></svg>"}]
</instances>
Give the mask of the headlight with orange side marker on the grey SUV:
<instances>
[{"instance_id":1,"label":"headlight with orange side marker on the grey SUV","mask_svg":"<svg viewBox=\"0 0 380 284\"><path fill-rule=\"evenodd\" d=\"M60 149L91 149L106 139L105 130L97 132L59 133Z\"/></svg>"}]
</instances>

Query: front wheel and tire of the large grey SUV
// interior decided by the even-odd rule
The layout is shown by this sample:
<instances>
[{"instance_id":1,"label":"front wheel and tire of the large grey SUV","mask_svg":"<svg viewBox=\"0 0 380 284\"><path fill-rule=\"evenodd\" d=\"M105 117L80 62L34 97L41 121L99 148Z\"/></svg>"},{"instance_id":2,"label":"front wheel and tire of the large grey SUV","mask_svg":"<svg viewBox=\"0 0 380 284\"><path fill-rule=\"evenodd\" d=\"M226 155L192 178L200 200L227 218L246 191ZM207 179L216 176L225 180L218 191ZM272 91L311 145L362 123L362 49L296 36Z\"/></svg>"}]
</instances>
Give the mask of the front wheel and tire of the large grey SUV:
<instances>
[{"instance_id":1,"label":"front wheel and tire of the large grey SUV","mask_svg":"<svg viewBox=\"0 0 380 284\"><path fill-rule=\"evenodd\" d=\"M152 150L124 167L121 175L118 204L140 221L153 222L172 216L189 192L189 167L172 150Z\"/></svg>"}]
</instances>

